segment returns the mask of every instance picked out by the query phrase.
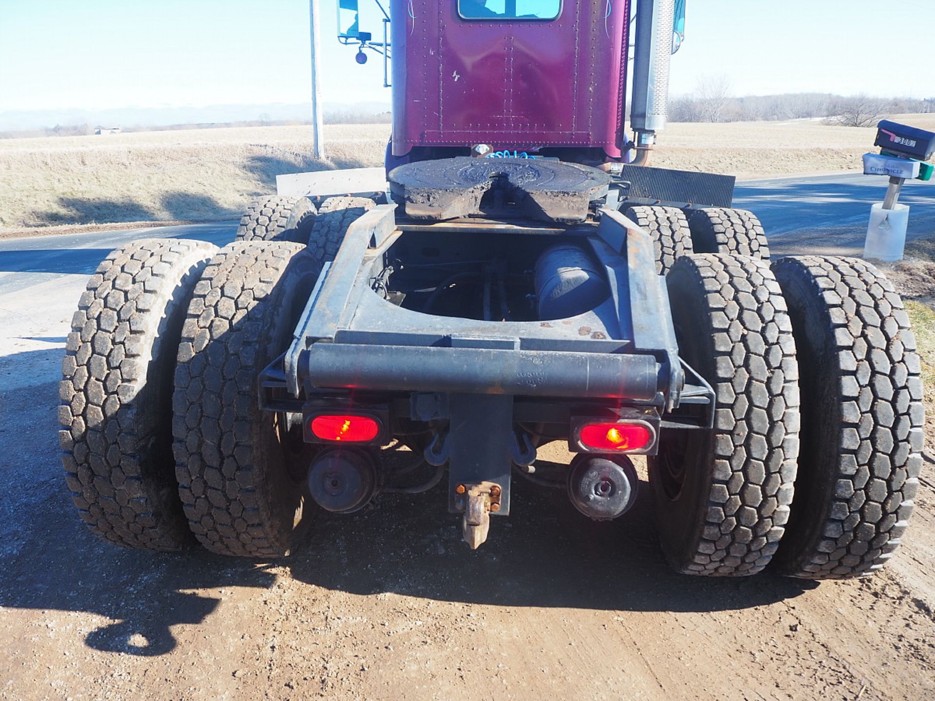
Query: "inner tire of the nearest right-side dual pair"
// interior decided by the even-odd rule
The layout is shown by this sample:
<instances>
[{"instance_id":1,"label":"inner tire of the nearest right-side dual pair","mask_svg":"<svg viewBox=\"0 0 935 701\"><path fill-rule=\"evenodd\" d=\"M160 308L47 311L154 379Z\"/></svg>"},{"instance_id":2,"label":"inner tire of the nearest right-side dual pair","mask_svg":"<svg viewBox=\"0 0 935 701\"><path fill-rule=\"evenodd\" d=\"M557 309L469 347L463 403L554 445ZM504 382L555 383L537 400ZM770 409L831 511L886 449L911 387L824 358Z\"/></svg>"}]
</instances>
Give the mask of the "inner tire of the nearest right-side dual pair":
<instances>
[{"instance_id":1,"label":"inner tire of the nearest right-side dual pair","mask_svg":"<svg viewBox=\"0 0 935 701\"><path fill-rule=\"evenodd\" d=\"M779 285L762 261L695 254L667 278L679 354L716 393L712 430L664 433L650 460L659 538L683 574L769 564L792 503L798 365Z\"/></svg>"}]
</instances>

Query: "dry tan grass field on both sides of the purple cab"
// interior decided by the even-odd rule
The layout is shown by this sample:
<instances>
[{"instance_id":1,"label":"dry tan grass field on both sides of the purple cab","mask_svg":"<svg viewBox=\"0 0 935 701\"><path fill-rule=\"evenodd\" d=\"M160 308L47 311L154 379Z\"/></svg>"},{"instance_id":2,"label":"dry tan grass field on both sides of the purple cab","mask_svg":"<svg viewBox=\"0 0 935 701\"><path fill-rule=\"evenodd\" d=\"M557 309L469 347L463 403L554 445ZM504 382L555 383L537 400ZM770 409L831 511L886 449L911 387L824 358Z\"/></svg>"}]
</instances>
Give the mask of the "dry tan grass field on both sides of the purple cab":
<instances>
[{"instance_id":1,"label":"dry tan grass field on both sides of the purple cab","mask_svg":"<svg viewBox=\"0 0 935 701\"><path fill-rule=\"evenodd\" d=\"M935 115L898 119L935 128ZM3 139L0 231L235 218L273 192L280 173L381 165L389 132L389 124L326 126L327 162L310 155L308 126ZM873 133L819 122L674 123L654 165L739 179L855 170Z\"/></svg>"}]
</instances>

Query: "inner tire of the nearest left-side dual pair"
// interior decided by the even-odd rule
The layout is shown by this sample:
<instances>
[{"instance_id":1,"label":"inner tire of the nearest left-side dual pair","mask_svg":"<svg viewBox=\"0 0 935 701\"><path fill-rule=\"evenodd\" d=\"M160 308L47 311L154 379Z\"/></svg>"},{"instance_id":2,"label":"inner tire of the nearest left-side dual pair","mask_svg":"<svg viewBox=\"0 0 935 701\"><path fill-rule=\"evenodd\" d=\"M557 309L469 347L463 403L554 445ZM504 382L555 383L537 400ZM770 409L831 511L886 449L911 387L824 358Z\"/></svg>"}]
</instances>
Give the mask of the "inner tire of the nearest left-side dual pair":
<instances>
[{"instance_id":1,"label":"inner tire of the nearest left-side dual pair","mask_svg":"<svg viewBox=\"0 0 935 701\"><path fill-rule=\"evenodd\" d=\"M172 433L185 515L209 551L279 557L309 530L301 422L259 408L257 375L288 348L318 271L300 244L234 242L195 286Z\"/></svg>"}]
</instances>

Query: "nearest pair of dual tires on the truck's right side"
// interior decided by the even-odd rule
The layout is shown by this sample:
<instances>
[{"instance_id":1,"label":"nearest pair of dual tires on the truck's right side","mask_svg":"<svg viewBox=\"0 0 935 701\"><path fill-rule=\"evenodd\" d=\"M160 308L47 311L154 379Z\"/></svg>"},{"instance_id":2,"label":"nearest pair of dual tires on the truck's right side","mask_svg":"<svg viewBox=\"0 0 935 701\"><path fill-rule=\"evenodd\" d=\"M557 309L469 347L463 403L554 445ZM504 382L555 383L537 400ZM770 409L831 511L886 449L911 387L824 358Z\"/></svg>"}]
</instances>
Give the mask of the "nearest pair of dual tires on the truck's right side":
<instances>
[{"instance_id":1,"label":"nearest pair of dual tires on the truck's right side","mask_svg":"<svg viewBox=\"0 0 935 701\"><path fill-rule=\"evenodd\" d=\"M712 431L664 436L650 469L685 574L841 579L882 567L913 511L919 358L892 284L858 259L680 259L667 278Z\"/></svg>"}]
</instances>

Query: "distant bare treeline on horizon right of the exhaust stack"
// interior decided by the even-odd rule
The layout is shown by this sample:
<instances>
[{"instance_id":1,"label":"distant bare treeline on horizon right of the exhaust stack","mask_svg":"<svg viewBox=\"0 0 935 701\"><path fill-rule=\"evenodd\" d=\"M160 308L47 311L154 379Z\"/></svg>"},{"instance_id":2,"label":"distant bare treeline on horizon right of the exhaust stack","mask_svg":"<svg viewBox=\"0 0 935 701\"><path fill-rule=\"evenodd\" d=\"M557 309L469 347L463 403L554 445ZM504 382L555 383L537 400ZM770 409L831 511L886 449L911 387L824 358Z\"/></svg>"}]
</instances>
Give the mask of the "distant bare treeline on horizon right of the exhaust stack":
<instances>
[{"instance_id":1,"label":"distant bare treeline on horizon right of the exhaust stack","mask_svg":"<svg viewBox=\"0 0 935 701\"><path fill-rule=\"evenodd\" d=\"M702 79L698 90L669 101L671 122L777 122L821 119L829 124L872 126L891 114L935 112L935 97L873 97L786 93L732 97L724 79Z\"/></svg>"}]
</instances>

